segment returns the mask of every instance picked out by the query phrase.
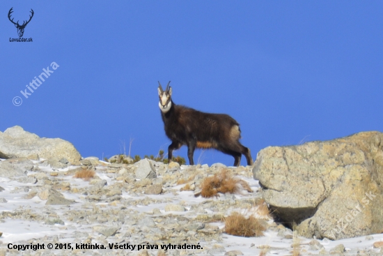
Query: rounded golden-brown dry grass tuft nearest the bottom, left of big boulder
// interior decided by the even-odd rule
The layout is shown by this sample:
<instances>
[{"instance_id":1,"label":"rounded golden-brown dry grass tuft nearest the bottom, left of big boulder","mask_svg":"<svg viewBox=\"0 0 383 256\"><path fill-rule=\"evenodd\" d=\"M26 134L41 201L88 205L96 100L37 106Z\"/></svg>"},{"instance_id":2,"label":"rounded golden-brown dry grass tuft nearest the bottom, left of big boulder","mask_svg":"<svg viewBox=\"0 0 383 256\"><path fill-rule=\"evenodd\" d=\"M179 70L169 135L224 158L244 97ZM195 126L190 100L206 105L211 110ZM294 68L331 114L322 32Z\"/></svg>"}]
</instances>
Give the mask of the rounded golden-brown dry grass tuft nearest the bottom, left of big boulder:
<instances>
[{"instance_id":1,"label":"rounded golden-brown dry grass tuft nearest the bottom, left of big boulder","mask_svg":"<svg viewBox=\"0 0 383 256\"><path fill-rule=\"evenodd\" d=\"M263 236L265 227L260 224L259 220L250 216L246 218L240 213L234 212L225 218L225 232L233 236Z\"/></svg>"}]
</instances>

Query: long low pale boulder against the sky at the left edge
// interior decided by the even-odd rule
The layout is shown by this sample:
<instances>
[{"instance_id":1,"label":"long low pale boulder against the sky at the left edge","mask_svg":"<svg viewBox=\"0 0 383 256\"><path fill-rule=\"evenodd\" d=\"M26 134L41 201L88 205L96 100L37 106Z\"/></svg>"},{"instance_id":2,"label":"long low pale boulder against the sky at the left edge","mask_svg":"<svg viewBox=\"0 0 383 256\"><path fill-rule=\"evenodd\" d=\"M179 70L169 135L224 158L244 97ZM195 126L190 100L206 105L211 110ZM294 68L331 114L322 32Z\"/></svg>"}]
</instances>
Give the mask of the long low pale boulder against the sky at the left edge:
<instances>
[{"instance_id":1,"label":"long low pale boulder against the sky at the left edge","mask_svg":"<svg viewBox=\"0 0 383 256\"><path fill-rule=\"evenodd\" d=\"M0 158L66 158L72 165L79 165L80 153L70 142L61 139L40 138L26 132L20 126L13 126L0 132Z\"/></svg>"}]
</instances>

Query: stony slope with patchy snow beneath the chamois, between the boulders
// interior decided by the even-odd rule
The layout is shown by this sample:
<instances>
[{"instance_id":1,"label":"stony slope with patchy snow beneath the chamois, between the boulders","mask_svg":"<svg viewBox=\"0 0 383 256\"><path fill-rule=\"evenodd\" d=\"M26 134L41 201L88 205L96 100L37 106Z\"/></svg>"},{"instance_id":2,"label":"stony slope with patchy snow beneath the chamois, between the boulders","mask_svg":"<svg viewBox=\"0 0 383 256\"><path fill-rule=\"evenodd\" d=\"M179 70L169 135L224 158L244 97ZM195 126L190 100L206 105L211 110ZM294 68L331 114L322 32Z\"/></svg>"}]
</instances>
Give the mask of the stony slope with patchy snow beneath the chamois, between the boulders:
<instances>
[{"instance_id":1,"label":"stony slope with patchy snow beneath the chamois, between the boulders","mask_svg":"<svg viewBox=\"0 0 383 256\"><path fill-rule=\"evenodd\" d=\"M9 161L2 160L1 165ZM249 183L253 193L240 189L235 195L203 198L195 197L201 182L226 168L224 165L180 167L150 160L125 165L86 158L81 166L56 169L47 160L12 161L17 174L0 177L0 255L21 253L9 249L10 243L70 244L72 248L25 250L23 255L291 255L293 244L301 255L380 254L373 244L383 235L341 243L297 239L297 234L260 211L260 187L252 179L250 167L228 170ZM94 178L75 179L81 169L95 170ZM181 191L186 184L192 191ZM233 211L260 218L267 227L265 236L225 234L224 217ZM104 249L86 248L91 244ZM169 244L201 248L161 248ZM143 247L138 250L138 246Z\"/></svg>"}]
</instances>

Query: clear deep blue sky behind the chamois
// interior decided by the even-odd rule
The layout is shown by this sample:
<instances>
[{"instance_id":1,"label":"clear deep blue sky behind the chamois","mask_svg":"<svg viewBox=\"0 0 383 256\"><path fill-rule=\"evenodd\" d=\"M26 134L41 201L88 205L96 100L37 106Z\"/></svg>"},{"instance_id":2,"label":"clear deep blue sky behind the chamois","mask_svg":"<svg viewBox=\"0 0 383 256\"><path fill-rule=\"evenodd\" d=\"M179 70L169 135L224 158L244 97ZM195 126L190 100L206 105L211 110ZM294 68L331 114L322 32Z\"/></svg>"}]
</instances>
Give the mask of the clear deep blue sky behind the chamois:
<instances>
[{"instance_id":1,"label":"clear deep blue sky behind the chamois","mask_svg":"<svg viewBox=\"0 0 383 256\"><path fill-rule=\"evenodd\" d=\"M33 9L23 36L32 43L10 42L11 7L20 24ZM176 104L233 116L254 159L266 146L382 131L382 10L382 1L3 0L0 130L61 137L84 157L123 153L131 139L132 155L155 155L170 144L157 81L171 80ZM175 155L187 158L186 147ZM233 165L218 151L198 157Z\"/></svg>"}]
</instances>

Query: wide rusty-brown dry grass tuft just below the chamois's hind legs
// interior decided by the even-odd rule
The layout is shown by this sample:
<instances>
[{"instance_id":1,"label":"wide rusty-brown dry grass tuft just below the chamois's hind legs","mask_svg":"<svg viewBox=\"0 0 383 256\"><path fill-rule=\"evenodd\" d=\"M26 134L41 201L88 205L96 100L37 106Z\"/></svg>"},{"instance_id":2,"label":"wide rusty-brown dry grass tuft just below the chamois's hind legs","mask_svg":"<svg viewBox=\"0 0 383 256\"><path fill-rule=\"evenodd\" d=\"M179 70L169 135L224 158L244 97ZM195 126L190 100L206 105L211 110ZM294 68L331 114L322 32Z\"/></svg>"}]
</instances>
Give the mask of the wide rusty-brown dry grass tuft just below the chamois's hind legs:
<instances>
[{"instance_id":1,"label":"wide rusty-brown dry grass tuft just below the chamois's hind legs","mask_svg":"<svg viewBox=\"0 0 383 256\"><path fill-rule=\"evenodd\" d=\"M228 170L221 170L221 172L203 179L201 195L203 197L214 197L217 196L218 193L235 193L240 186L252 192L246 181L233 178Z\"/></svg>"}]
</instances>

